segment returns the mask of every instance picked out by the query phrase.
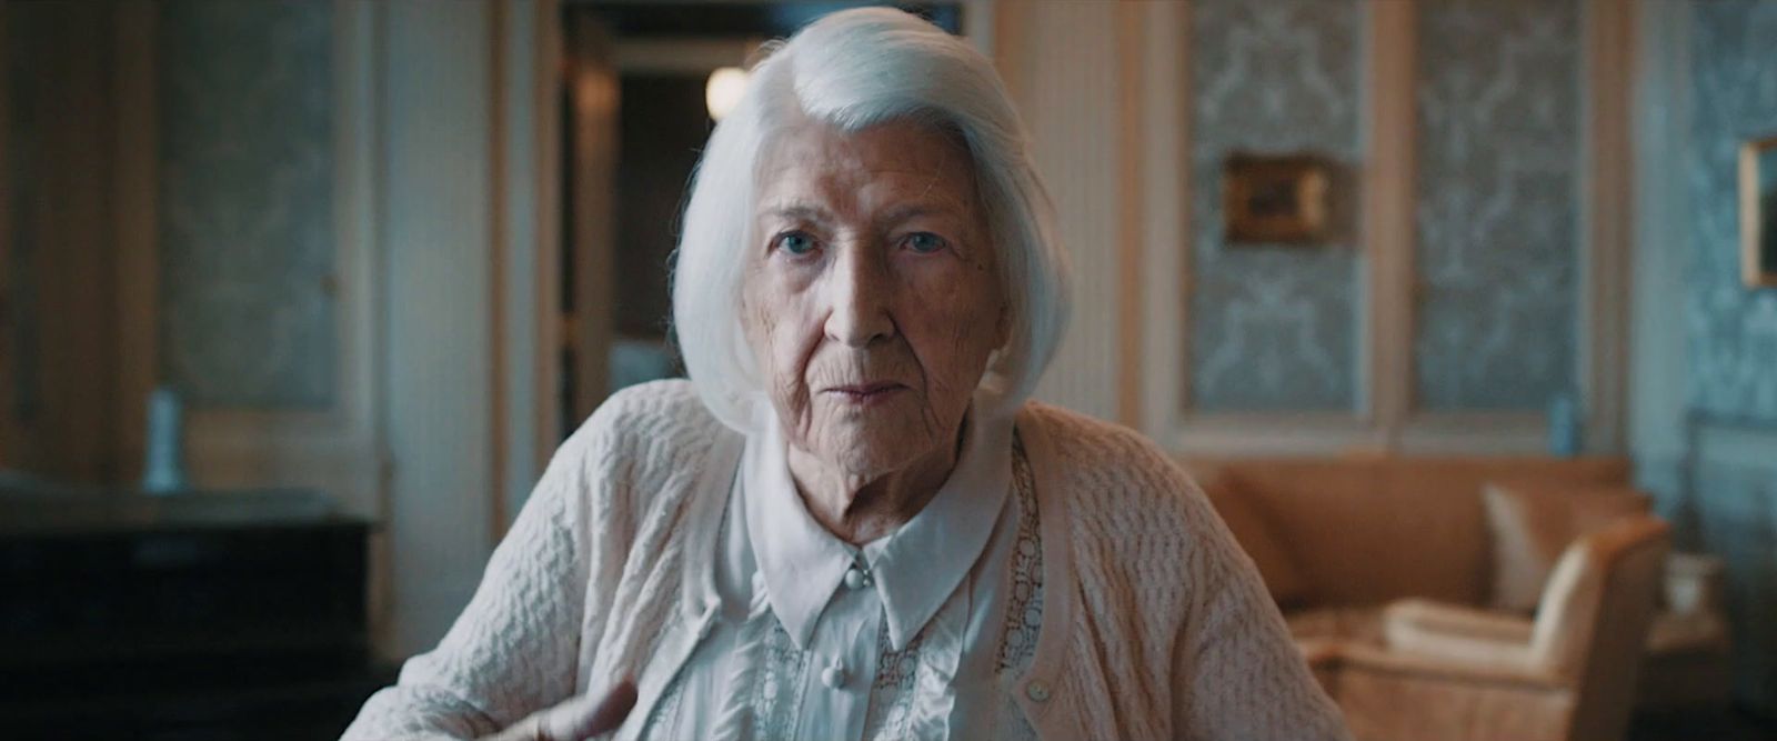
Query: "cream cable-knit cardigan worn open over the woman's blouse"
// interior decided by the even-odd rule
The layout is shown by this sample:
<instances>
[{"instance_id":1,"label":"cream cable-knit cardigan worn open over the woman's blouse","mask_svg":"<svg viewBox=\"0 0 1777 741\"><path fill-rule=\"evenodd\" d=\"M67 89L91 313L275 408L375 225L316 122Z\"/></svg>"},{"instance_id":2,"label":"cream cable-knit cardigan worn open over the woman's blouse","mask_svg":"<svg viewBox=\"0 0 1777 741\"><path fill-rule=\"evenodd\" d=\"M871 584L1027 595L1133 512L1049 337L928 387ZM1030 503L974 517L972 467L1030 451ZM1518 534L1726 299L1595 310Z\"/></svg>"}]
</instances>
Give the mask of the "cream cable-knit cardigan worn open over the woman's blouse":
<instances>
[{"instance_id":1,"label":"cream cable-knit cardigan worn open over the woman's blouse","mask_svg":"<svg viewBox=\"0 0 1777 741\"><path fill-rule=\"evenodd\" d=\"M1027 403L1043 627L1018 704L1043 739L1345 739L1253 562L1132 430ZM743 439L684 380L608 400L556 451L457 624L345 739L492 734L620 677L629 737L714 620Z\"/></svg>"}]
</instances>

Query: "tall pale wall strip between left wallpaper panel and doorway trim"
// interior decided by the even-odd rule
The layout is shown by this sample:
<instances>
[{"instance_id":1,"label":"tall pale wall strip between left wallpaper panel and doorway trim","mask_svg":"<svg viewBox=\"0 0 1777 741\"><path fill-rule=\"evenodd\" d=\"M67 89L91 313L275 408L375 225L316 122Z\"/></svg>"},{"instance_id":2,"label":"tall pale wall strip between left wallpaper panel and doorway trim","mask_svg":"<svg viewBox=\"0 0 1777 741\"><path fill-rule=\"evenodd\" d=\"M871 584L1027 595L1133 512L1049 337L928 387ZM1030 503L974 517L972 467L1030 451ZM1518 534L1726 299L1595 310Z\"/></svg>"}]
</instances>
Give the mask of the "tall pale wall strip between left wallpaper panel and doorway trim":
<instances>
[{"instance_id":1,"label":"tall pale wall strip between left wallpaper panel and doorway trim","mask_svg":"<svg viewBox=\"0 0 1777 741\"><path fill-rule=\"evenodd\" d=\"M492 549L494 18L489 4L384 12L379 121L387 306L384 398L394 458L387 533L393 656L432 647Z\"/></svg>"}]
</instances>

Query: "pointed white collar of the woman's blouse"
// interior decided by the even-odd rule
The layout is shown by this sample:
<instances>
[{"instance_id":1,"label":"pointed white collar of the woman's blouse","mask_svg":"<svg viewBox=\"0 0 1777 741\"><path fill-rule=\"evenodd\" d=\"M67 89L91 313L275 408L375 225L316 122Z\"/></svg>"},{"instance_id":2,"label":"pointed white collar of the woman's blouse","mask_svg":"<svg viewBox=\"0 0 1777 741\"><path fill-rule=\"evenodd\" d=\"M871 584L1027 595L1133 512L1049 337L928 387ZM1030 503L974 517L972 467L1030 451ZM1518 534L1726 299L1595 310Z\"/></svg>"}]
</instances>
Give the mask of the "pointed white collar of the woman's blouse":
<instances>
[{"instance_id":1,"label":"pointed white collar of the woman's blouse","mask_svg":"<svg viewBox=\"0 0 1777 741\"><path fill-rule=\"evenodd\" d=\"M826 531L789 474L787 442L769 405L761 405L741 458L746 533L771 611L807 650L814 625L839 590L857 554L883 602L894 650L920 627L968 576L986 549L1011 489L1013 419L968 410L963 450L938 492L894 533L860 549Z\"/></svg>"}]
</instances>

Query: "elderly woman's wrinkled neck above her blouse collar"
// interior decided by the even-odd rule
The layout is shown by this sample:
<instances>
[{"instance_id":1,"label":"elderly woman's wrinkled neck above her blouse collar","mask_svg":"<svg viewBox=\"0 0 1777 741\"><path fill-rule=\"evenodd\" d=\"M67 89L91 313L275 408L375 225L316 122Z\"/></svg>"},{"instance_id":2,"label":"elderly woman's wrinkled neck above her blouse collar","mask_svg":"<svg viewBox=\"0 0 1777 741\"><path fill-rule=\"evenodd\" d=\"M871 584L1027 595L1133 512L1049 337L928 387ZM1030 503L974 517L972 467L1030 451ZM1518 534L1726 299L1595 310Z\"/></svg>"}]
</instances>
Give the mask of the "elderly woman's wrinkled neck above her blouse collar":
<instances>
[{"instance_id":1,"label":"elderly woman's wrinkled neck above her blouse collar","mask_svg":"<svg viewBox=\"0 0 1777 741\"><path fill-rule=\"evenodd\" d=\"M887 473L846 471L791 446L789 474L816 522L848 544L864 546L894 533L938 494L956 467L967 426L958 426L954 444L940 444Z\"/></svg>"}]
</instances>

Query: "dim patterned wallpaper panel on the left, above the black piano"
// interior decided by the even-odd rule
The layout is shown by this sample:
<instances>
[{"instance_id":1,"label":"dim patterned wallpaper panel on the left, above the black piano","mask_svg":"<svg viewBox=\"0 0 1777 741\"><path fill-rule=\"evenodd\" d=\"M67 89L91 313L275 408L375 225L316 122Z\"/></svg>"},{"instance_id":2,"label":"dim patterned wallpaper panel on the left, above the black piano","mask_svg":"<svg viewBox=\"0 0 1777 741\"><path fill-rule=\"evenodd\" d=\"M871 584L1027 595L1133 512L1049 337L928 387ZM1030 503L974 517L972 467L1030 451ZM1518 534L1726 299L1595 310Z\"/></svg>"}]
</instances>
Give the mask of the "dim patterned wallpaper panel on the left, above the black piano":
<instances>
[{"instance_id":1,"label":"dim patterned wallpaper panel on the left, above the black piano","mask_svg":"<svg viewBox=\"0 0 1777 741\"><path fill-rule=\"evenodd\" d=\"M332 4L158 4L160 364L194 405L325 407Z\"/></svg>"}]
</instances>

